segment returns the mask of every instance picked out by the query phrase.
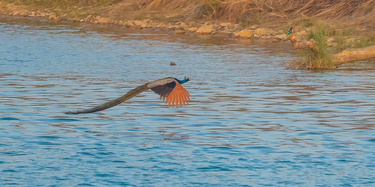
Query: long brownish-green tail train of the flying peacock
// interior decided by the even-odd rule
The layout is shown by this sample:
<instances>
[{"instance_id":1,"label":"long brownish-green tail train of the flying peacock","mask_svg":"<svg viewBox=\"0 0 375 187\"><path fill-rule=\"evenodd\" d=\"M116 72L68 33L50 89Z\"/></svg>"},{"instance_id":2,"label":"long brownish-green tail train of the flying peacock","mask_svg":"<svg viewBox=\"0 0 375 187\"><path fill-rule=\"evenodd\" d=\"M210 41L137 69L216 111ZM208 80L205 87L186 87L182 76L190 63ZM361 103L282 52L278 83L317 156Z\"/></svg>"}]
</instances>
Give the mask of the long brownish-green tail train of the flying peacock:
<instances>
[{"instance_id":1,"label":"long brownish-green tail train of the flying peacock","mask_svg":"<svg viewBox=\"0 0 375 187\"><path fill-rule=\"evenodd\" d=\"M149 88L147 87L147 84L144 84L142 86L138 86L137 88L130 90L129 92L127 92L122 97L114 99L113 101L107 102L105 104L102 104L102 105L99 105L97 107L90 108L90 109L87 109L87 110L78 110L78 111L73 111L73 112L68 111L68 112L65 112L65 114L87 114L87 113L102 111L102 110L114 107L115 105L118 105L121 102L127 101L130 98L132 98L132 97L138 95L139 93L144 92L148 89Z\"/></svg>"}]
</instances>

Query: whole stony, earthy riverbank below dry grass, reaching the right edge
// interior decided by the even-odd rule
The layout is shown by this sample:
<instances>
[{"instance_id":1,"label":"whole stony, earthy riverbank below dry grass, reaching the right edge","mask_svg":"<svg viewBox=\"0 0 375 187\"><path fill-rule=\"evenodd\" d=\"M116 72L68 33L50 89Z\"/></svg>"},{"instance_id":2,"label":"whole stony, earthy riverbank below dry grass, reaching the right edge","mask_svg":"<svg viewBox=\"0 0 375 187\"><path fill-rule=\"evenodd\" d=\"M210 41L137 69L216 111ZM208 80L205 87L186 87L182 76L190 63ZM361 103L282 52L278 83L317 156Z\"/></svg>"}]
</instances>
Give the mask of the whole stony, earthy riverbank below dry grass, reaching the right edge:
<instances>
[{"instance_id":1,"label":"whole stony, earthy riverbank below dry grass, reaching the right edge","mask_svg":"<svg viewBox=\"0 0 375 187\"><path fill-rule=\"evenodd\" d=\"M38 1L33 3L30 3L29 1L27 2L28 3L20 3L20 1L0 1L0 13L10 16L36 17L54 23L71 21L86 22L93 25L113 24L130 29L160 29L171 34L210 35L224 38L272 39L275 42L289 40L286 32L290 26L294 27L294 36L296 36L298 40L306 40L309 37L309 33L316 29L314 25L318 22L306 18L296 18L293 21L284 23L282 22L284 21L284 18L279 18L279 21L274 19L273 21L268 21L266 23L257 21L258 24L251 22L244 24L243 22L227 22L229 20L237 20L232 18L222 18L221 20L225 21L219 21L212 20L212 16L211 18L203 16L205 19L193 19L192 17L186 18L186 16L181 17L181 12L168 15L166 10L164 10L164 12L159 11L159 14L154 14L155 12L149 10L150 7L147 11L143 11L143 13L139 13L138 8L135 10L128 10L128 15L123 15L124 13L122 12L120 14L119 12L121 11L118 10L124 6L124 4L121 3L101 4L98 2L97 4L93 4L86 1L86 3L83 3L83 1L76 1L76 3L68 4L42 4L40 2L40 4L37 4ZM148 4L148 6L150 5L152 5L152 3ZM153 6L155 6L155 4L153 4ZM116 9L116 11L114 9ZM125 10L124 7L121 10ZM177 10L174 12L176 11ZM160 14L163 16L160 17ZM210 21L207 21L207 19L210 19ZM254 20L256 19L254 18ZM374 33L372 33L366 25L366 27L363 27L364 25L356 25L361 27L356 27L350 31L346 31L340 29L340 27L334 24L333 21L330 22L330 24L326 22L326 24L330 25L327 27L327 30L330 31L327 32L327 36L325 36L327 46L335 46L339 50L343 50L346 47L358 47L357 43L366 43L364 42L366 40L369 42L372 40L375 41L375 39L371 39L371 41L369 40L369 36ZM339 33L340 36L336 37L336 35L338 35L337 33Z\"/></svg>"}]
</instances>

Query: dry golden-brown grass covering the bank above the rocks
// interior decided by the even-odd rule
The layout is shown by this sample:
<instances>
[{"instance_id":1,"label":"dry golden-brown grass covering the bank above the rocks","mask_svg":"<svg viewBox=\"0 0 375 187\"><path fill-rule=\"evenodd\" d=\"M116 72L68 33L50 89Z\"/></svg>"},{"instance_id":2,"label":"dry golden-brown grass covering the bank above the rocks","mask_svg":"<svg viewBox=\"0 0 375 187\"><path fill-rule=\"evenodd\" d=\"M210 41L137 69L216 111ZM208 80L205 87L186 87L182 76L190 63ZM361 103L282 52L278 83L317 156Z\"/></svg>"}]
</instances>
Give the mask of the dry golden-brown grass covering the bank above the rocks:
<instances>
[{"instance_id":1,"label":"dry golden-brown grass covering the bank above the rocks","mask_svg":"<svg viewBox=\"0 0 375 187\"><path fill-rule=\"evenodd\" d=\"M375 0L1 0L43 6L101 6L108 15L220 20L246 25L270 20L344 18L348 25L375 25Z\"/></svg>"}]
</instances>

